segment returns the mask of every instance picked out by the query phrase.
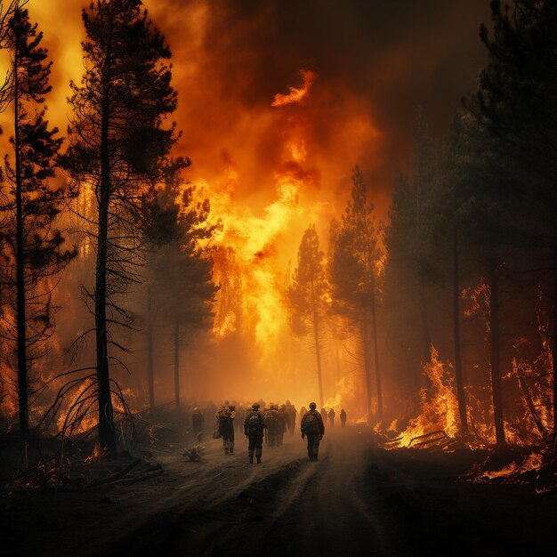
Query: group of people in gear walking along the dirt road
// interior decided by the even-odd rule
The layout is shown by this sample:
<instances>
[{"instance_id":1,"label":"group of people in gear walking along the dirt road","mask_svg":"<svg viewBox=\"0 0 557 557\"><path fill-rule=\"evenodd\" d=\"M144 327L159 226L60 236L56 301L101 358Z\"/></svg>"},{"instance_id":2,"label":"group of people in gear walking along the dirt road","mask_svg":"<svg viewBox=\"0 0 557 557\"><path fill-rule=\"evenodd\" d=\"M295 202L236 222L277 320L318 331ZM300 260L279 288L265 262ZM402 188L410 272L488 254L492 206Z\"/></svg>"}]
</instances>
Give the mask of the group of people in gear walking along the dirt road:
<instances>
[{"instance_id":1,"label":"group of people in gear walking along the dirt road","mask_svg":"<svg viewBox=\"0 0 557 557\"><path fill-rule=\"evenodd\" d=\"M236 405L225 400L215 414L213 437L214 439L222 439L225 455L233 455L235 423L243 424L243 432L248 441L249 463L254 464L255 459L257 464L260 464L263 441L266 441L267 448L280 447L287 431L294 434L297 415L297 410L289 400L280 406L271 403L269 408L262 408L259 402L254 402L251 408L240 408L239 412L237 412ZM325 424L328 420L329 426L335 427L335 416L333 408L330 408L328 412L325 408L321 408L319 412L315 402L311 402L309 410L304 407L301 408L300 429L302 439L307 440L308 457L311 461L318 460L319 441L325 435ZM343 427L346 424L346 417L346 412L342 409L340 418ZM205 422L205 417L199 408L193 409L191 422L194 435L199 440Z\"/></svg>"}]
</instances>

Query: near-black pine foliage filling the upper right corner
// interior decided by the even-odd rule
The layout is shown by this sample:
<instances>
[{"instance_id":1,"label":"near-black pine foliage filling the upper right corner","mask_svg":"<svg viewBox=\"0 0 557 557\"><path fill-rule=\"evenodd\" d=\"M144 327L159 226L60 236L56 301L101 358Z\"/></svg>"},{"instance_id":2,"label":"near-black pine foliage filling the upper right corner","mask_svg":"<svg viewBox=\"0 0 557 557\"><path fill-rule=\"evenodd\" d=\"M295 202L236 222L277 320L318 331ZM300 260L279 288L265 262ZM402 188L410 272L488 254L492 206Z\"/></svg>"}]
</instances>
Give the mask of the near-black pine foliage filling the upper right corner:
<instances>
[{"instance_id":1,"label":"near-black pine foliage filling the upper right corner","mask_svg":"<svg viewBox=\"0 0 557 557\"><path fill-rule=\"evenodd\" d=\"M488 66L465 103L464 117L487 157L490 201L503 209L495 215L501 236L510 230L515 243L531 246L545 259L542 267L553 271L545 300L553 314L548 340L557 400L557 5L513 0L502 7L493 0L491 17L492 35L485 27L480 32ZM497 286L493 273L492 283Z\"/></svg>"}]
</instances>

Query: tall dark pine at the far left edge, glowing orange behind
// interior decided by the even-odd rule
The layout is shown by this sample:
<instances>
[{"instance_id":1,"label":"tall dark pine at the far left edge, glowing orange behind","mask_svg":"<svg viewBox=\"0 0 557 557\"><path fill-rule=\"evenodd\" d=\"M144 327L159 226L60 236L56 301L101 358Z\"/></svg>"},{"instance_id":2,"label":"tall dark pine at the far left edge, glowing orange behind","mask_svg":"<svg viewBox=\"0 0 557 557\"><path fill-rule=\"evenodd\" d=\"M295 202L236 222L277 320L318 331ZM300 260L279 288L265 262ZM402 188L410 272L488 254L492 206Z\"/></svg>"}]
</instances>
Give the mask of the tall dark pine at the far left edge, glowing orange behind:
<instances>
[{"instance_id":1,"label":"tall dark pine at the far left edge, glowing orange behind","mask_svg":"<svg viewBox=\"0 0 557 557\"><path fill-rule=\"evenodd\" d=\"M62 140L57 128L45 119L44 95L52 62L41 46L28 11L16 8L4 34L12 69L8 87L13 106L12 157L4 159L7 187L2 190L0 246L3 264L0 285L3 311L2 335L11 345L8 365L16 373L20 433L28 434L29 371L46 353L44 343L54 332L52 276L77 255L63 247L65 238L53 222L63 203L73 195L64 185L55 186L56 159Z\"/></svg>"}]
</instances>

